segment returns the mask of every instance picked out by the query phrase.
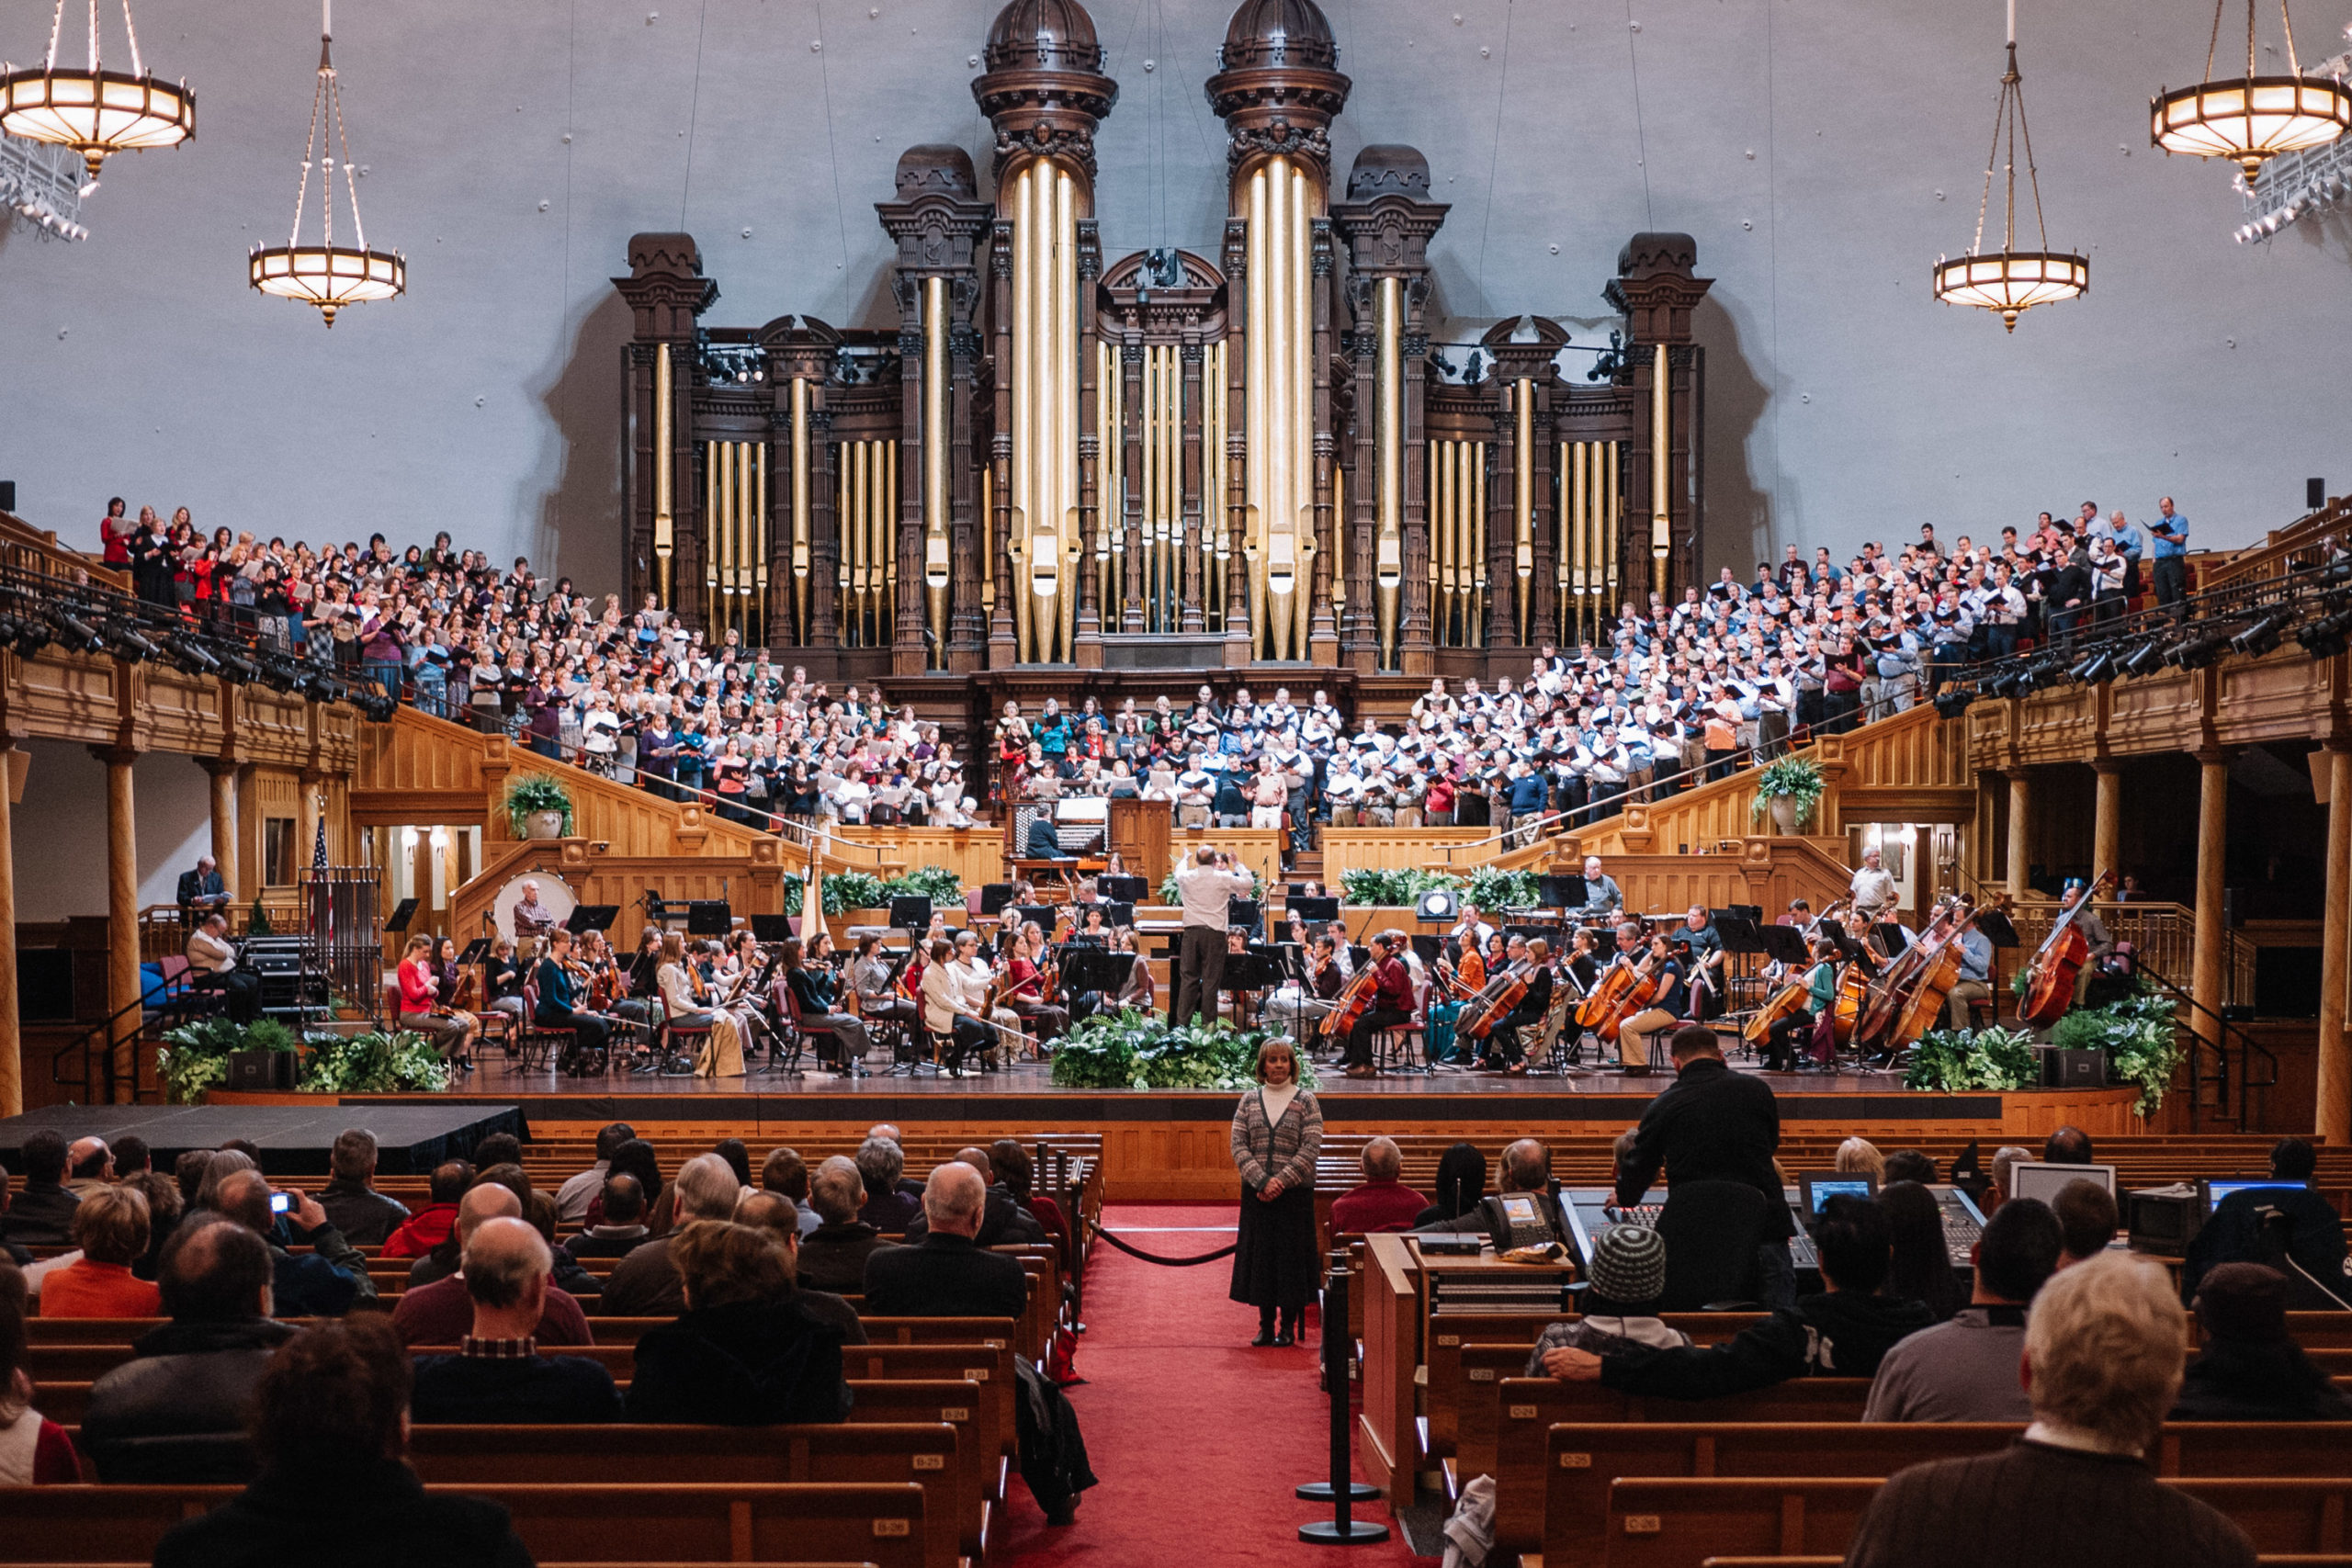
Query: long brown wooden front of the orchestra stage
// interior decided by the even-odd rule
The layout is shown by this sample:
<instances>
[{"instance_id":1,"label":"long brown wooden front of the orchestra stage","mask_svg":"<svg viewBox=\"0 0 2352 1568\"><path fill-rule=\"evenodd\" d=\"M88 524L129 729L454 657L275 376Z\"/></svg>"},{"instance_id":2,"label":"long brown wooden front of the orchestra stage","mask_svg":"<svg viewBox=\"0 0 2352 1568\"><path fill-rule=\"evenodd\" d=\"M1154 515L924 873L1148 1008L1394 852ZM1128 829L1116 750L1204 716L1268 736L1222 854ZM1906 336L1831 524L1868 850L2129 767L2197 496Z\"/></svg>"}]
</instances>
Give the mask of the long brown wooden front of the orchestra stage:
<instances>
[{"instance_id":1,"label":"long brown wooden front of the orchestra stage","mask_svg":"<svg viewBox=\"0 0 2352 1568\"><path fill-rule=\"evenodd\" d=\"M1915 1093L1893 1074L1759 1074L1780 1100L1788 1133L1860 1133L1879 1147L1933 1140L2039 1145L2058 1126L2093 1138L2143 1131L2136 1088L2032 1088L2018 1093ZM1508 1138L1616 1138L1639 1119L1665 1074L1576 1072L1505 1079L1468 1072L1343 1079L1317 1091L1334 1133L1461 1135L1482 1145ZM517 1105L534 1135L586 1135L607 1121L677 1138L739 1135L755 1145L795 1138L840 1145L875 1121L922 1124L974 1140L1042 1131L1103 1133L1105 1194L1112 1199L1230 1199L1235 1194L1228 1091L1056 1088L1047 1067L1023 1065L971 1079L557 1079L489 1065L454 1095L346 1095L346 1105L482 1100ZM303 1095L212 1093L212 1105Z\"/></svg>"}]
</instances>

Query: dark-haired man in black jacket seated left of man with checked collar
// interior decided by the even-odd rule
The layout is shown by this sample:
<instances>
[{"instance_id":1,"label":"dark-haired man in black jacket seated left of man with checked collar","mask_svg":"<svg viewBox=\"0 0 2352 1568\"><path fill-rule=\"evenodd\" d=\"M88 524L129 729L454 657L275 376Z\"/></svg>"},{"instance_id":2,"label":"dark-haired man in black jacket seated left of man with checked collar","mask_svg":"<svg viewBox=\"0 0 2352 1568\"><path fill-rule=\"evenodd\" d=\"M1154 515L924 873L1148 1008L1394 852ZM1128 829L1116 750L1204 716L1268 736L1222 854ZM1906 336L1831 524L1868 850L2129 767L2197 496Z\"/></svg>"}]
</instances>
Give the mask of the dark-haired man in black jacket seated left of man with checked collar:
<instances>
[{"instance_id":1,"label":"dark-haired man in black jacket seated left of man with checked collar","mask_svg":"<svg viewBox=\"0 0 2352 1568\"><path fill-rule=\"evenodd\" d=\"M106 1483L223 1483L254 1474L245 1422L270 1352L270 1248L216 1215L191 1215L162 1251L172 1321L89 1387L82 1448Z\"/></svg>"}]
</instances>

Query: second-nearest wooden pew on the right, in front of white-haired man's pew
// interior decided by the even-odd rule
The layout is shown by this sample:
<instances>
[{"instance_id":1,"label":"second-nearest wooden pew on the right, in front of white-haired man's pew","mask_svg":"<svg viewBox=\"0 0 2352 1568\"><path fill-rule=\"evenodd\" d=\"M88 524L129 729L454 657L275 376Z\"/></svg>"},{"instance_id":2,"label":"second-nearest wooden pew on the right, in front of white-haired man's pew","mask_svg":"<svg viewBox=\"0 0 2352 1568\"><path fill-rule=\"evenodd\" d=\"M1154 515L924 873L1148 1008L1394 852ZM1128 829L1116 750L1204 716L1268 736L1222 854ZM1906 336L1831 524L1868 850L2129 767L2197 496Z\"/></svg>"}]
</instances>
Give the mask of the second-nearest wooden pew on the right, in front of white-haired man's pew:
<instances>
[{"instance_id":1,"label":"second-nearest wooden pew on the right, in front of white-haired man's pew","mask_svg":"<svg viewBox=\"0 0 2352 1568\"><path fill-rule=\"evenodd\" d=\"M1545 1434L1543 1561L1597 1563L1609 1488L1632 1476L1889 1476L2006 1448L2023 1422L1642 1422L1557 1425ZM2180 1422L2164 1429L2166 1476L2279 1476L2352 1469L2352 1422Z\"/></svg>"}]
</instances>

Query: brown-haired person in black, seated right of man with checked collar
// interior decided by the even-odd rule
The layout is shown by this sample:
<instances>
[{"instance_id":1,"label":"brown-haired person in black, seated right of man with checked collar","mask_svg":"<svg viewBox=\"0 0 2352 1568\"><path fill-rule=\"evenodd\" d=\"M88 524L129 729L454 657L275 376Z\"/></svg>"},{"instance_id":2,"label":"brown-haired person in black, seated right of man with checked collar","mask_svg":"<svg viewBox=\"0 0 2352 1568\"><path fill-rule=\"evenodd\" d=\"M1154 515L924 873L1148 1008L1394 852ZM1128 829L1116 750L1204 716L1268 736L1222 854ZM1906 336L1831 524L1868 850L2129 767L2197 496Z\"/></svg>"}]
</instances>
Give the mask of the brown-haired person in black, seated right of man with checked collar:
<instances>
[{"instance_id":1,"label":"brown-haired person in black, seated right of man with checked collar","mask_svg":"<svg viewBox=\"0 0 2352 1568\"><path fill-rule=\"evenodd\" d=\"M670 1241L684 1309L637 1340L628 1418L727 1427L844 1420L842 1340L795 1300L783 1237L694 1220Z\"/></svg>"}]
</instances>

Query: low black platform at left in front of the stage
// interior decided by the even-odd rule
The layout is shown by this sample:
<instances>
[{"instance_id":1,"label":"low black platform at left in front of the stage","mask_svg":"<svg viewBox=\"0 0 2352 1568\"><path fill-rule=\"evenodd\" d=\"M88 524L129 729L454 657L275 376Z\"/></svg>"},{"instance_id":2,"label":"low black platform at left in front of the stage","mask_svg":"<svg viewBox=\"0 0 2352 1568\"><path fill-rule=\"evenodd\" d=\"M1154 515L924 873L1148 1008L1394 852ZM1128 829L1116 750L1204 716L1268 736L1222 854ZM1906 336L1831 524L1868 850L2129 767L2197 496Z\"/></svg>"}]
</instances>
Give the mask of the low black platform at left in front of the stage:
<instances>
[{"instance_id":1,"label":"low black platform at left in front of the stage","mask_svg":"<svg viewBox=\"0 0 2352 1568\"><path fill-rule=\"evenodd\" d=\"M155 1168L169 1171L186 1150L216 1150L230 1138L261 1147L261 1166L270 1175L327 1175L327 1154L346 1126L360 1126L343 1103L318 1095L280 1095L256 1105L249 1095L238 1105L49 1105L24 1117L0 1119L0 1164L24 1171L19 1150L28 1133L52 1128L75 1138L139 1133L155 1152ZM376 1135L376 1171L386 1175L421 1175L452 1157L473 1154L489 1133L529 1138L522 1107L513 1100L477 1100L440 1095L430 1105L369 1107L367 1131Z\"/></svg>"}]
</instances>

